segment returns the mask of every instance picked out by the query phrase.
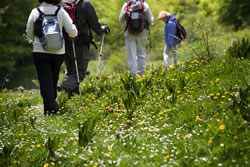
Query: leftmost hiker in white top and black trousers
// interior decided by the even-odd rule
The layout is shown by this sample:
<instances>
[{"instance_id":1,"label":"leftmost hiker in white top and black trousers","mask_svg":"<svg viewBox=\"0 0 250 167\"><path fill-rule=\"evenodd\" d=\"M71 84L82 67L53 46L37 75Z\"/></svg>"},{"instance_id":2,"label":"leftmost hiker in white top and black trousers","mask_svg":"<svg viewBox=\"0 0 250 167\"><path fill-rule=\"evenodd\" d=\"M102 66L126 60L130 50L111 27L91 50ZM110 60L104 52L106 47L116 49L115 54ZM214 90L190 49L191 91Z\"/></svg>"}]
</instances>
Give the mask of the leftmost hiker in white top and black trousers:
<instances>
[{"instance_id":1,"label":"leftmost hiker in white top and black trousers","mask_svg":"<svg viewBox=\"0 0 250 167\"><path fill-rule=\"evenodd\" d=\"M75 37L77 35L76 26L73 24L68 13L57 6L61 0L38 1L40 2L39 10L44 14L54 15L57 13L56 16L60 30L64 28L70 37ZM57 82L59 78L59 70L64 60L65 45L62 37L62 46L60 49L44 49L43 44L40 41L41 38L34 34L35 22L39 18L39 15L40 13L37 8L34 8L31 11L26 25L26 34L27 38L30 40L30 43L33 44L33 59L40 84L40 94L44 103L44 115L52 115L57 112ZM62 36L62 31L60 33Z\"/></svg>"}]
</instances>

